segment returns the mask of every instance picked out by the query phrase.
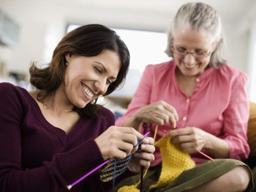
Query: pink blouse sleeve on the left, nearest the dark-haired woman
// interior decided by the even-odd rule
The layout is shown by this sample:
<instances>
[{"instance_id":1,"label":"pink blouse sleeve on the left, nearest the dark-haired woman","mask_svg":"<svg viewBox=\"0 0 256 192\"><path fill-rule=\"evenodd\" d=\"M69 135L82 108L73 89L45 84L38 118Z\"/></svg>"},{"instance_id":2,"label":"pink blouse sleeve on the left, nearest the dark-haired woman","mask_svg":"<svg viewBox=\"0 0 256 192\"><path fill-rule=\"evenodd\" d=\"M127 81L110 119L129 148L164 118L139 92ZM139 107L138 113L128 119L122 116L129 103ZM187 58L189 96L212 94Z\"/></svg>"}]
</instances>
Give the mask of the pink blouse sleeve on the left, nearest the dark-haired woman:
<instances>
[{"instance_id":1,"label":"pink blouse sleeve on the left, nearest the dark-haired woman","mask_svg":"<svg viewBox=\"0 0 256 192\"><path fill-rule=\"evenodd\" d=\"M130 102L127 112L116 120L115 125L122 126L124 121L129 119L134 113L141 107L146 106L150 103L150 96L152 90L154 65L147 65L138 88Z\"/></svg>"}]
</instances>

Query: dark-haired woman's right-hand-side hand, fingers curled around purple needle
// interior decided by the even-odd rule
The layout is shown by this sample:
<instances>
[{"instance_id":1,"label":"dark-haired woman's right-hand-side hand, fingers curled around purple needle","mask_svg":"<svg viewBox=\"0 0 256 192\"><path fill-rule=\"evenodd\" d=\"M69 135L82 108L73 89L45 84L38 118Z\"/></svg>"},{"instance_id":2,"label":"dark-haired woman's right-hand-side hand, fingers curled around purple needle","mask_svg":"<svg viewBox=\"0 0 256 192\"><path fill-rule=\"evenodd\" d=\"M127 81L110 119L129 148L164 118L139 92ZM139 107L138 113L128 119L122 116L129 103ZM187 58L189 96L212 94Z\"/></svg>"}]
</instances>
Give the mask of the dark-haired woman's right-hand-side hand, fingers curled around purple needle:
<instances>
[{"instance_id":1,"label":"dark-haired woman's right-hand-side hand, fingers curled around purple needle","mask_svg":"<svg viewBox=\"0 0 256 192\"><path fill-rule=\"evenodd\" d=\"M140 152L135 152L134 157L129 163L129 168L132 172L139 173L141 171L141 166L149 168L150 163L155 160L154 152L155 146L154 139L152 137L146 137L143 139L141 144Z\"/></svg>"}]
</instances>

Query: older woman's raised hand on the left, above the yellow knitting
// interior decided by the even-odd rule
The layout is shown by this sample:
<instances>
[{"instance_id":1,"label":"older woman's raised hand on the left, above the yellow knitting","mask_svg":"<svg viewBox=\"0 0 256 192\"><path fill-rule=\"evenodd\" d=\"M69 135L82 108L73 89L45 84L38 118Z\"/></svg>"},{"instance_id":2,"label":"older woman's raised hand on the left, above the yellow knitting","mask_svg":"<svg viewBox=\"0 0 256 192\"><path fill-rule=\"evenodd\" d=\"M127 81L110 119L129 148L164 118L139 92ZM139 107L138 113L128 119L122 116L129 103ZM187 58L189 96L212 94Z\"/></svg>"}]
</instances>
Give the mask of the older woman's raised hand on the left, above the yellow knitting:
<instances>
[{"instance_id":1,"label":"older woman's raised hand on the left, above the yellow knitting","mask_svg":"<svg viewBox=\"0 0 256 192\"><path fill-rule=\"evenodd\" d=\"M175 108L165 101L158 101L139 108L133 118L139 122L156 123L158 125L163 125L169 121L173 124L175 121L179 120Z\"/></svg>"}]
</instances>

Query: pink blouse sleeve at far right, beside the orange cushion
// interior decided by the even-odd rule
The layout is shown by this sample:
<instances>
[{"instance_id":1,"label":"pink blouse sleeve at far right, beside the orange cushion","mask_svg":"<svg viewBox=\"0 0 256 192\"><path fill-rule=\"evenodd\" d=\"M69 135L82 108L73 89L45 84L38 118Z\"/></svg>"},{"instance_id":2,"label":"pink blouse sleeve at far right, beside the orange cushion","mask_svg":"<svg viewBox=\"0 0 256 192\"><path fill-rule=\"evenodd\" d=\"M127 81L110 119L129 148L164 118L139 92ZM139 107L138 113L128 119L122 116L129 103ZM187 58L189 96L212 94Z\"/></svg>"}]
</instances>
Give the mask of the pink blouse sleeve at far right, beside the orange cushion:
<instances>
[{"instance_id":1,"label":"pink blouse sleeve at far right, beside the orange cushion","mask_svg":"<svg viewBox=\"0 0 256 192\"><path fill-rule=\"evenodd\" d=\"M246 94L248 78L243 72L231 79L230 101L223 113L224 139L230 149L230 158L244 161L250 152L247 143L249 102Z\"/></svg>"}]
</instances>

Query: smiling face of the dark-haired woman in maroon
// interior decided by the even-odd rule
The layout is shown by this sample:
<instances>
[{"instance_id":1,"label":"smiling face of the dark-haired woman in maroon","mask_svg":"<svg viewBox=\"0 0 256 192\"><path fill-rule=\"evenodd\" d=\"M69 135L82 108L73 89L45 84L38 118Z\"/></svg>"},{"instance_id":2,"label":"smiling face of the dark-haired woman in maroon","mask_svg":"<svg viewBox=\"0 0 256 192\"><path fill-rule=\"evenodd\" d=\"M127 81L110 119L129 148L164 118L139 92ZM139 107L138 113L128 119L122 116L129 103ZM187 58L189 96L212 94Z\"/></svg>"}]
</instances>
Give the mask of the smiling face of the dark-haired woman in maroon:
<instances>
[{"instance_id":1,"label":"smiling face of the dark-haired woman in maroon","mask_svg":"<svg viewBox=\"0 0 256 192\"><path fill-rule=\"evenodd\" d=\"M119 56L110 50L91 57L67 53L65 59L68 65L64 74L64 90L69 90L66 96L78 108L84 108L90 101L104 95L121 68ZM63 88L60 86L58 89Z\"/></svg>"}]
</instances>

